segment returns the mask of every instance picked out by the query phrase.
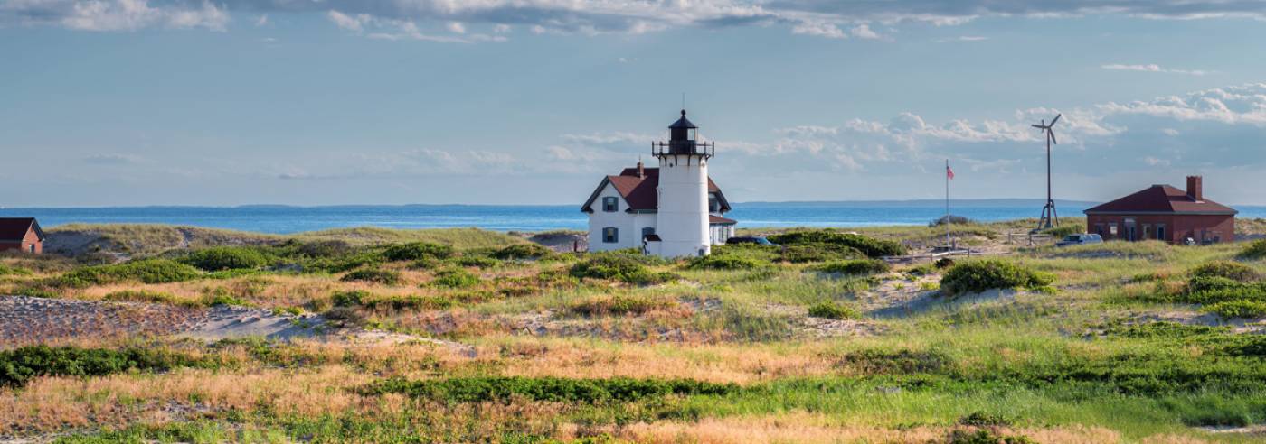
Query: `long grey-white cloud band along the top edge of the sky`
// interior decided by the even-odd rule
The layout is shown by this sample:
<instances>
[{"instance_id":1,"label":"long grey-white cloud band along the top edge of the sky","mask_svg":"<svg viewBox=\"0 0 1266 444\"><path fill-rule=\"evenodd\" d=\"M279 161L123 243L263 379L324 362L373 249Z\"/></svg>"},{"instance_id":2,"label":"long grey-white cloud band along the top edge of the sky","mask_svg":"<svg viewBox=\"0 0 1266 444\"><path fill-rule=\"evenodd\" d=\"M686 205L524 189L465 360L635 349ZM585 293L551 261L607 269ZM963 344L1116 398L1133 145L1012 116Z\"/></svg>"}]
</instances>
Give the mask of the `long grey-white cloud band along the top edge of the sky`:
<instances>
[{"instance_id":1,"label":"long grey-white cloud band along the top edge of the sky","mask_svg":"<svg viewBox=\"0 0 1266 444\"><path fill-rule=\"evenodd\" d=\"M475 28L504 34L525 27L537 34L641 34L672 28L785 27L796 34L842 39L880 38L871 24L920 23L953 27L980 18L1132 16L1142 19L1266 20L1260 1L1195 3L1188 0L1070 0L1046 3L990 0L824 1L824 0L699 0L699 1L558 1L558 0L13 0L0 4L0 24L62 25L72 29L133 30L149 27L225 29L229 10L270 14L339 11L361 29L371 18L381 23L414 23L417 28L447 27L452 34ZM332 15L332 14L330 14ZM256 20L260 23L260 20ZM454 25L456 24L456 25ZM396 25L399 27L399 25ZM847 32L844 29L848 29ZM396 35L381 33L387 35ZM423 34L429 35L429 34ZM401 38L408 38L403 34ZM422 38L430 40L430 38ZM470 42L494 40L491 38ZM950 39L952 40L952 39ZM957 40L971 42L971 37ZM948 40L946 40L948 42Z\"/></svg>"}]
</instances>

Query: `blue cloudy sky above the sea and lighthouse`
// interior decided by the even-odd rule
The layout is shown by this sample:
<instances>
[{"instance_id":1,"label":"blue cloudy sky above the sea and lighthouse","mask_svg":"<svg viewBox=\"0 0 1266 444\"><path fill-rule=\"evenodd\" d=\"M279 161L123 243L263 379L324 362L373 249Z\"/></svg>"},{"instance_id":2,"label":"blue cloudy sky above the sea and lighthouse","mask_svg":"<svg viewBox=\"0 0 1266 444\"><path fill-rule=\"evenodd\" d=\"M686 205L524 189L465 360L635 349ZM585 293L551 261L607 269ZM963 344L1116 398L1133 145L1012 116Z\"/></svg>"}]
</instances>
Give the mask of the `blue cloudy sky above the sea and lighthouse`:
<instances>
[{"instance_id":1,"label":"blue cloudy sky above the sea and lighthouse","mask_svg":"<svg viewBox=\"0 0 1266 444\"><path fill-rule=\"evenodd\" d=\"M0 206L576 204L682 101L734 202L1205 177L1266 204L1266 1L0 0ZM684 96L684 100L682 100Z\"/></svg>"}]
</instances>

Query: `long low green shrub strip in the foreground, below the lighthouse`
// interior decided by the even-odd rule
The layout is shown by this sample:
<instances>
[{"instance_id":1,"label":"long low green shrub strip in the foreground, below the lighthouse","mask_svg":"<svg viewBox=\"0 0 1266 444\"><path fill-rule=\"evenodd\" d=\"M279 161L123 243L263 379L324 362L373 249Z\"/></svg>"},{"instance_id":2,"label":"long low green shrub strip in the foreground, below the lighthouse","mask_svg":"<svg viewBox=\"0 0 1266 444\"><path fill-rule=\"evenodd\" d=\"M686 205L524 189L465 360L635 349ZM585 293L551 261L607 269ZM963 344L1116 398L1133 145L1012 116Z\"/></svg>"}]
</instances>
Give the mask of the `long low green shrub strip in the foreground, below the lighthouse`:
<instances>
[{"instance_id":1,"label":"long low green shrub strip in the foreground, below the lighthouse","mask_svg":"<svg viewBox=\"0 0 1266 444\"><path fill-rule=\"evenodd\" d=\"M636 402L662 398L670 395L724 396L738 392L733 383L714 383L695 379L571 379L557 377L499 377L476 376L443 379L408 381L385 379L363 390L366 395L401 393L414 398L438 402L484 402L498 400L509 402L524 397L541 402Z\"/></svg>"}]
</instances>

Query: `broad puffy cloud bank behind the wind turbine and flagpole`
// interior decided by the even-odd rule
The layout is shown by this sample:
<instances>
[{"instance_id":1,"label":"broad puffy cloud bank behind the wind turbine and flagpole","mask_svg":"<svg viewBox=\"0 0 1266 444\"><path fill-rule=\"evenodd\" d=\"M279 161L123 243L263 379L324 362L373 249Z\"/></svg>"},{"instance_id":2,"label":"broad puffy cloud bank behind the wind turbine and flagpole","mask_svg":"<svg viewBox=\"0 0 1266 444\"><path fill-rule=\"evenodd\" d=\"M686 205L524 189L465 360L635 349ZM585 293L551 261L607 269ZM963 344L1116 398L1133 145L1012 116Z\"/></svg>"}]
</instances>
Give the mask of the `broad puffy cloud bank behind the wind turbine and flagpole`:
<instances>
[{"instance_id":1,"label":"broad puffy cloud bank behind the wind turbine and flagpole","mask_svg":"<svg viewBox=\"0 0 1266 444\"><path fill-rule=\"evenodd\" d=\"M729 162L749 176L847 171L904 177L947 158L971 171L1015 175L1044 167L1042 133L1029 125L1057 114L1058 163L1087 177L1144 175L1176 164L1194 172L1266 166L1266 151L1258 149L1266 139L1266 83L1125 104L1024 109L999 119L928 121L899 113L886 121L779 128L770 142L723 139L717 151L738 157Z\"/></svg>"}]
</instances>

